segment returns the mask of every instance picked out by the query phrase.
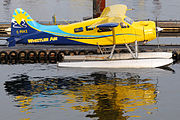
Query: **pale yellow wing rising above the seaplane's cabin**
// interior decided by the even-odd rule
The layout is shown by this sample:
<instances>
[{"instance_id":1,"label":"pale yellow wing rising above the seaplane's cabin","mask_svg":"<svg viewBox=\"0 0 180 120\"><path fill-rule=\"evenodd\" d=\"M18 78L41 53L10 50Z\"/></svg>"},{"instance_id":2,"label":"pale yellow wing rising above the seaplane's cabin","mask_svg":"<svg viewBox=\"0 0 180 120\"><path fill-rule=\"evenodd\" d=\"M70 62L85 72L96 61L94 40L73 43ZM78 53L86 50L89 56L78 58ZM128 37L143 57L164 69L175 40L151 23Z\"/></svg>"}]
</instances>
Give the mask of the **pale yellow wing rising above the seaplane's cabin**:
<instances>
[{"instance_id":1,"label":"pale yellow wing rising above the seaplane's cabin","mask_svg":"<svg viewBox=\"0 0 180 120\"><path fill-rule=\"evenodd\" d=\"M106 7L104 11L102 12L100 18L100 21L92 24L90 27L95 28L101 24L107 24L107 23L120 23L127 11L127 6L122 4L112 5L110 7Z\"/></svg>"}]
</instances>

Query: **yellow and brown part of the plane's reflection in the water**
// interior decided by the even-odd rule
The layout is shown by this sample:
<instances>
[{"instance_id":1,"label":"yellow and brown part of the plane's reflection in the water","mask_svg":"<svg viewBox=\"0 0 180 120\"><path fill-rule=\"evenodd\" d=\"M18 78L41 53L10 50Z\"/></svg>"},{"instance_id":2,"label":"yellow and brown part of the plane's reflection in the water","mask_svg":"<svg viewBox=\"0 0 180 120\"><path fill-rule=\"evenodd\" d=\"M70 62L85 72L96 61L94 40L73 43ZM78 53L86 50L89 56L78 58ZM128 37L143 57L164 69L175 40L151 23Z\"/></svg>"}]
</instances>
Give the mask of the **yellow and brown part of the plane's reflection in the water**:
<instances>
[{"instance_id":1,"label":"yellow and brown part of the plane's reflection in the water","mask_svg":"<svg viewBox=\"0 0 180 120\"><path fill-rule=\"evenodd\" d=\"M133 80L128 78L127 80ZM149 81L150 79L144 79ZM138 107L151 106L156 103L156 86L151 83L140 83L123 85L126 79L122 81L112 80L112 84L99 84L99 85L84 85L77 88L77 91L65 91L69 96L70 103L79 103L74 105L72 109L81 112L88 112L93 110L93 113L88 114L88 117L101 119L107 118L115 120L125 120L129 117L141 117L140 115L124 116L124 113L133 112ZM114 83L113 83L114 82ZM128 82L127 82L128 84ZM85 103L85 104L81 104ZM157 109L148 109L147 113Z\"/></svg>"}]
</instances>

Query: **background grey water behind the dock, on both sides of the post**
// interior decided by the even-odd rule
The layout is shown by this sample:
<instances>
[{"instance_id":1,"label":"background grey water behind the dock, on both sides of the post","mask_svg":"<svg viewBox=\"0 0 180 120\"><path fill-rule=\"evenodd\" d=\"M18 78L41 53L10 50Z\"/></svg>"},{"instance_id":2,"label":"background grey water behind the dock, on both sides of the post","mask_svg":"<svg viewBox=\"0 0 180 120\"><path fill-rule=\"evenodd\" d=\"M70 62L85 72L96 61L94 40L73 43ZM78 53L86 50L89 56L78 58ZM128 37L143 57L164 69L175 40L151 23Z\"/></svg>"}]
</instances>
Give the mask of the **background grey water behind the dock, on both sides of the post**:
<instances>
[{"instance_id":1,"label":"background grey water behind the dock, on both sides of the post","mask_svg":"<svg viewBox=\"0 0 180 120\"><path fill-rule=\"evenodd\" d=\"M57 21L82 20L92 16L93 0L1 0L0 22L11 21L16 8L25 9L37 21L52 21L55 14ZM179 0L106 0L106 6L126 4L127 15L133 19L180 20Z\"/></svg>"}]
</instances>

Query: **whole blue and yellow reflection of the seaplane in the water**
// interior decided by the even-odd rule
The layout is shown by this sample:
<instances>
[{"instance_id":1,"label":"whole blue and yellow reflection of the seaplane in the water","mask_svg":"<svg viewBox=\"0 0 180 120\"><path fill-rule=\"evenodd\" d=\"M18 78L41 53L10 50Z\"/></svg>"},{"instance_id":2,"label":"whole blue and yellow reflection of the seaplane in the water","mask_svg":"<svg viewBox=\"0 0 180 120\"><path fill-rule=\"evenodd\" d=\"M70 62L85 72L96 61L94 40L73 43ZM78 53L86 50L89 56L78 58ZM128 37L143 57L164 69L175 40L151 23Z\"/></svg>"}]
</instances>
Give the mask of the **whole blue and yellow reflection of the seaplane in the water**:
<instances>
[{"instance_id":1,"label":"whole blue and yellow reflection of the seaplane in the water","mask_svg":"<svg viewBox=\"0 0 180 120\"><path fill-rule=\"evenodd\" d=\"M5 82L5 90L14 96L20 111L26 113L72 104L72 109L87 112L89 118L124 120L141 117L129 115L140 107L147 115L157 109L157 83L153 83L156 80L141 79L131 73L119 74L97 72L65 78L19 75Z\"/></svg>"}]
</instances>

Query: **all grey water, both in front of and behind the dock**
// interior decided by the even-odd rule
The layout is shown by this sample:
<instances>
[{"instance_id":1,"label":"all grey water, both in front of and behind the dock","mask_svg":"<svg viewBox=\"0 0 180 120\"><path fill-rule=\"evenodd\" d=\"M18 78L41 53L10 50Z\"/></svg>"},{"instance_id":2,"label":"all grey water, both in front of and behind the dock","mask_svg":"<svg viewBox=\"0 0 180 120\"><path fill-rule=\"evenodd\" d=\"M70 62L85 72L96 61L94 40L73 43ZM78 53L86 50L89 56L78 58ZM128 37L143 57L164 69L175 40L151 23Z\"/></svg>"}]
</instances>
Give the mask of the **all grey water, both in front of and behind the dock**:
<instances>
[{"instance_id":1,"label":"all grey water, both in front of and behind the dock","mask_svg":"<svg viewBox=\"0 0 180 120\"><path fill-rule=\"evenodd\" d=\"M107 0L133 19L180 20L179 0ZM92 0L1 0L0 22L25 9L35 20L82 20ZM178 44L179 38L160 38ZM152 41L152 44L157 41ZM179 120L180 64L171 69L65 69L0 65L0 120Z\"/></svg>"}]
</instances>

